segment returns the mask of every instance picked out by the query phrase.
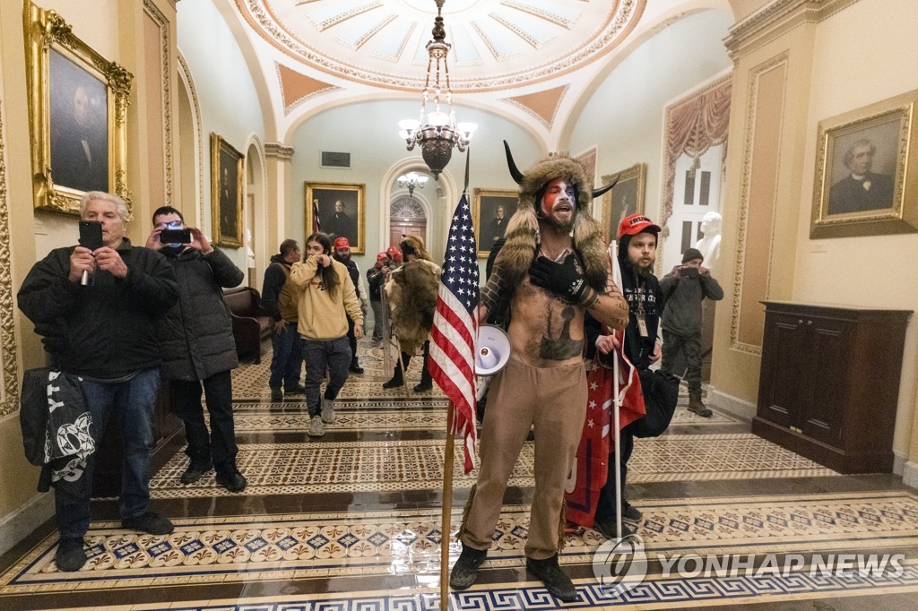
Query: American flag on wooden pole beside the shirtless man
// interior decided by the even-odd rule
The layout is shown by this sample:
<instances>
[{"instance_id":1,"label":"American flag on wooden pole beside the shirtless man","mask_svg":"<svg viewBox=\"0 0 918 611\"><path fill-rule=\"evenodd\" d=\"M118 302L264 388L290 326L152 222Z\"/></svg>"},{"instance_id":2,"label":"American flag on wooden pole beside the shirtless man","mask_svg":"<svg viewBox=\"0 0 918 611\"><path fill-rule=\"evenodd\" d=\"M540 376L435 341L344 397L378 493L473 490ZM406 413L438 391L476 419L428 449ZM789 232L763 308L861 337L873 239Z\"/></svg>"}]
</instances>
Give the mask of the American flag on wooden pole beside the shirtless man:
<instances>
[{"instance_id":1,"label":"American flag on wooden pole beside the shirtless man","mask_svg":"<svg viewBox=\"0 0 918 611\"><path fill-rule=\"evenodd\" d=\"M431 329L433 381L453 402L453 434L465 447L465 474L475 467L475 340L478 337L478 258L468 199L453 214Z\"/></svg>"}]
</instances>

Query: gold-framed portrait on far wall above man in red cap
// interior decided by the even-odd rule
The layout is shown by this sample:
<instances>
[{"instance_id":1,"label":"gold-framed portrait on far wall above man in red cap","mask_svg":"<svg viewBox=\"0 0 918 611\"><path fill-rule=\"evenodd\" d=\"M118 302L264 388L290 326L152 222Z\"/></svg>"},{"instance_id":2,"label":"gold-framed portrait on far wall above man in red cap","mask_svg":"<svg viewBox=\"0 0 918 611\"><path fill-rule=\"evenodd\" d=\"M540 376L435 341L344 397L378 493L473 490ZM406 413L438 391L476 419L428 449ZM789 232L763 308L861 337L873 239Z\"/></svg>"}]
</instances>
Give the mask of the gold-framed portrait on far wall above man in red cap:
<instances>
[{"instance_id":1,"label":"gold-framed portrait on far wall above man in red cap","mask_svg":"<svg viewBox=\"0 0 918 611\"><path fill-rule=\"evenodd\" d=\"M312 234L317 229L315 222L318 217L319 231L329 234L332 239L347 238L352 255L365 254L366 185L362 183L305 183L305 185L306 194L303 206L306 213L306 235Z\"/></svg>"}]
</instances>

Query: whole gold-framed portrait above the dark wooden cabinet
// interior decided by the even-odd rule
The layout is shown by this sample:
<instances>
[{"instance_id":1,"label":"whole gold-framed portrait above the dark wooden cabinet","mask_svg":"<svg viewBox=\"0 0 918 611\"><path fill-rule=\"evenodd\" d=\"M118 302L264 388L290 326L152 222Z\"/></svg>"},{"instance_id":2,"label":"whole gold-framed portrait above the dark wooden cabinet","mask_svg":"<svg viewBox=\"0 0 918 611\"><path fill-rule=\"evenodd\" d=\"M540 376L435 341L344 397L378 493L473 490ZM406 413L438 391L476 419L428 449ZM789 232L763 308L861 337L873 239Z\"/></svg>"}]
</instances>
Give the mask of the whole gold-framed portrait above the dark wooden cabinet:
<instances>
[{"instance_id":1,"label":"whole gold-framed portrait above the dark wooden cabinet","mask_svg":"<svg viewBox=\"0 0 918 611\"><path fill-rule=\"evenodd\" d=\"M918 231L918 91L820 121L810 238Z\"/></svg>"}]
</instances>

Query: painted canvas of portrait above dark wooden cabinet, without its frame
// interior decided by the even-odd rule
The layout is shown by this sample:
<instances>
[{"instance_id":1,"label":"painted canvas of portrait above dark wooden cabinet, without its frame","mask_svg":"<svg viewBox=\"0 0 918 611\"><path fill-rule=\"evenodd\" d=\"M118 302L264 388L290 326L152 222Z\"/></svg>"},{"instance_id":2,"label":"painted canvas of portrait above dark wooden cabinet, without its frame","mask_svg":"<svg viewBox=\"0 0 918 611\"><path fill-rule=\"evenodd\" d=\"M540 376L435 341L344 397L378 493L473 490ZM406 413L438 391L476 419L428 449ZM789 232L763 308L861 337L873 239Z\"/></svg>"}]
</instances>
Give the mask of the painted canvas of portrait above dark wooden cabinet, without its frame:
<instances>
[{"instance_id":1,"label":"painted canvas of portrait above dark wooden cabinet, without its frame","mask_svg":"<svg viewBox=\"0 0 918 611\"><path fill-rule=\"evenodd\" d=\"M883 210L893 206L899 121L860 128L833 138L827 161L828 215Z\"/></svg>"}]
</instances>

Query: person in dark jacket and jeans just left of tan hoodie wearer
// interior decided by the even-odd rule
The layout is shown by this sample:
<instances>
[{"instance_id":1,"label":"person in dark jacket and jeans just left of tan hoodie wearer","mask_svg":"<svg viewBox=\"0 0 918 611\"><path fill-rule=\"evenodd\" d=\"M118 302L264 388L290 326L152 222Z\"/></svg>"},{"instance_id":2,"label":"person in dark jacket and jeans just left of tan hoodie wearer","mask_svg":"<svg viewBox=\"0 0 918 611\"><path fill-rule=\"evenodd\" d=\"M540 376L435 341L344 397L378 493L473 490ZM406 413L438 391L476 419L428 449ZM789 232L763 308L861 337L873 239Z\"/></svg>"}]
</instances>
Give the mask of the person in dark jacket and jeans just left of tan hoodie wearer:
<instances>
[{"instance_id":1,"label":"person in dark jacket and jeans just left of tan hoodie wearer","mask_svg":"<svg viewBox=\"0 0 918 611\"><path fill-rule=\"evenodd\" d=\"M280 254L271 258L271 264L264 271L262 284L262 306L274 319L271 334L271 400L283 401L284 383L286 394L303 394L306 388L299 383L303 372L303 350L297 333L297 288L287 285L290 266L299 261L300 250L296 239L285 239L280 245Z\"/></svg>"}]
</instances>

